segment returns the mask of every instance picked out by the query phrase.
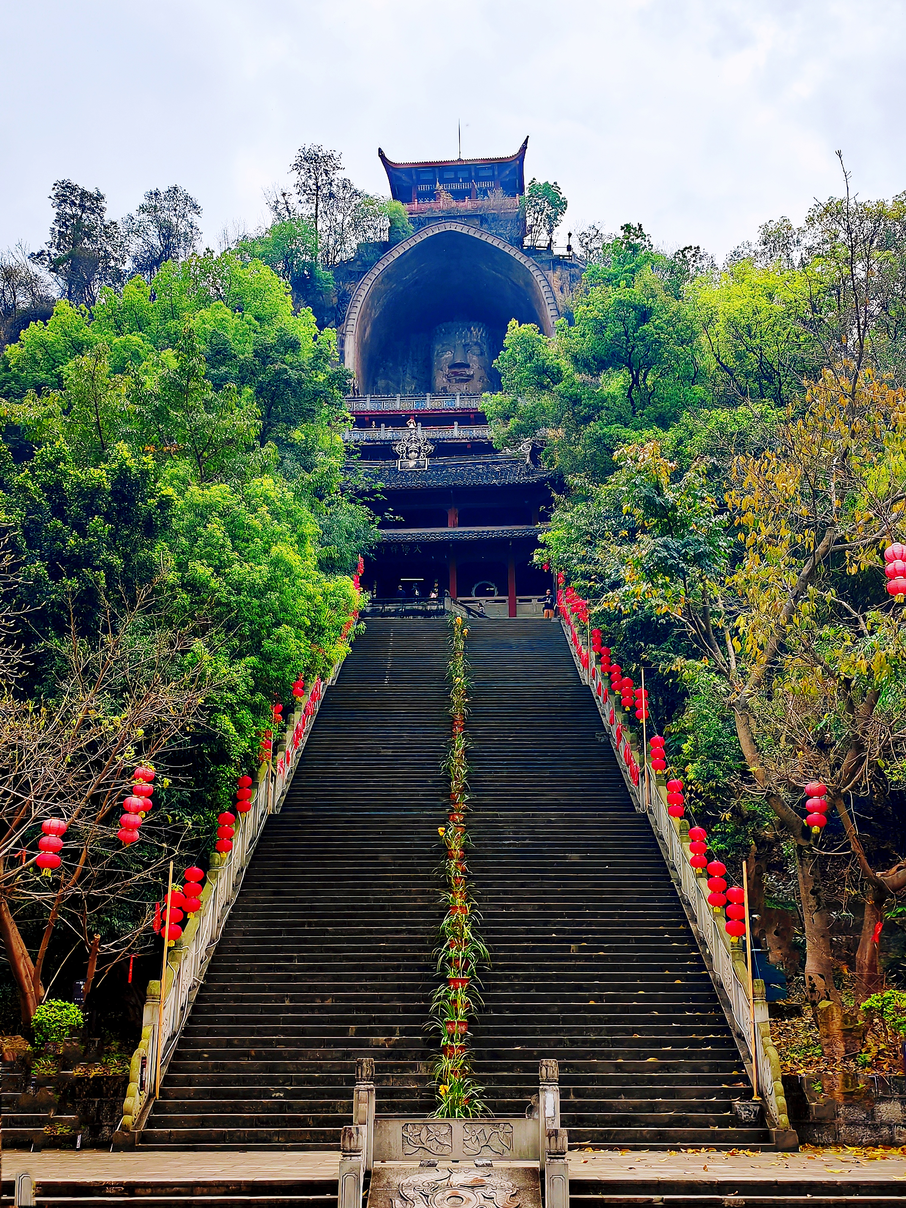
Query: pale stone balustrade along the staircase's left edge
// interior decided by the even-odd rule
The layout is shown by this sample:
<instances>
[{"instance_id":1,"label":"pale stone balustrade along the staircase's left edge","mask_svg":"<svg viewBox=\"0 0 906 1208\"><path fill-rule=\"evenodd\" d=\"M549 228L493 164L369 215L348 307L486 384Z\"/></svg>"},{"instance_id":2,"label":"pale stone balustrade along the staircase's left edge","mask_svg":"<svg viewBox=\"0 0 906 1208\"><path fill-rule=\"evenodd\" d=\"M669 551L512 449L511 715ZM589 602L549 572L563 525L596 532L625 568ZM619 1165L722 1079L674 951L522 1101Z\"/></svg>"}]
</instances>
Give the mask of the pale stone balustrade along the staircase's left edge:
<instances>
[{"instance_id":1,"label":"pale stone balustrade along the staircase's left edge","mask_svg":"<svg viewBox=\"0 0 906 1208\"><path fill-rule=\"evenodd\" d=\"M230 911L239 895L245 870L251 861L269 814L280 812L300 753L308 742L324 691L336 681L342 660L326 681L320 675L306 691L277 737L274 754L259 771L251 809L239 814L232 850L211 852L202 890L202 908L186 922L182 935L169 949L161 1012L161 982L150 981L141 1021L141 1039L132 1056L129 1085L115 1143L127 1144L145 1125L153 1105L159 1078L169 1063L205 971L223 931ZM159 1043L159 1049L158 1049ZM159 1075L158 1075L159 1052Z\"/></svg>"}]
</instances>

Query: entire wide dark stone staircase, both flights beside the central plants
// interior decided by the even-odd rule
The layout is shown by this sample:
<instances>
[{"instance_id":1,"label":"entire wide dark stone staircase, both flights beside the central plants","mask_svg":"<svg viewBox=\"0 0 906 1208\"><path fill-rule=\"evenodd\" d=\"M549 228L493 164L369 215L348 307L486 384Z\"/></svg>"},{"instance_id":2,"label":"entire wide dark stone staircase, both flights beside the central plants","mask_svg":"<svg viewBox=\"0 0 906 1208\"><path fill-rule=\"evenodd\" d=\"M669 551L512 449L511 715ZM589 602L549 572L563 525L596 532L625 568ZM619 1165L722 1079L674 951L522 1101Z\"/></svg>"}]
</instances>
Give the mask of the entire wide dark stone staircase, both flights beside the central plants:
<instances>
[{"instance_id":1,"label":"entire wide dark stone staircase, both flights beside the central plants","mask_svg":"<svg viewBox=\"0 0 906 1208\"><path fill-rule=\"evenodd\" d=\"M354 1061L381 1114L426 1115L441 919L446 626L367 625L268 820L143 1134L335 1149ZM647 820L558 625L477 621L470 860L492 951L476 1075L522 1114L561 1063L570 1146L765 1145L743 1064Z\"/></svg>"}]
</instances>

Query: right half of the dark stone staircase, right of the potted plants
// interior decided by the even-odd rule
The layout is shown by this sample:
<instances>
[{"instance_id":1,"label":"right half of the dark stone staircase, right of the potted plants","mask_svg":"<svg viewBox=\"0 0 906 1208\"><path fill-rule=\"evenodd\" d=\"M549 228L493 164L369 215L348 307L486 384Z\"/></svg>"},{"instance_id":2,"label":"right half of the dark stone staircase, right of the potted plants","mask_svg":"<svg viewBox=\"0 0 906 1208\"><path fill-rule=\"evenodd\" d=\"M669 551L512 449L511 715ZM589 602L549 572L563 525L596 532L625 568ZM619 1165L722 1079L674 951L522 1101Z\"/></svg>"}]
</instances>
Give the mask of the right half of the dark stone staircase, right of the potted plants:
<instances>
[{"instance_id":1,"label":"right half of the dark stone staircase, right of the potted plants","mask_svg":"<svg viewBox=\"0 0 906 1208\"><path fill-rule=\"evenodd\" d=\"M561 1067L570 1148L765 1145L739 1051L559 625L472 623L471 866L493 965L476 1069L519 1110Z\"/></svg>"}]
</instances>

